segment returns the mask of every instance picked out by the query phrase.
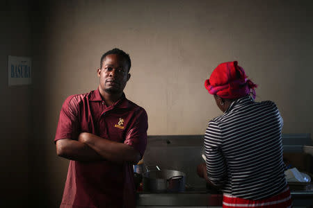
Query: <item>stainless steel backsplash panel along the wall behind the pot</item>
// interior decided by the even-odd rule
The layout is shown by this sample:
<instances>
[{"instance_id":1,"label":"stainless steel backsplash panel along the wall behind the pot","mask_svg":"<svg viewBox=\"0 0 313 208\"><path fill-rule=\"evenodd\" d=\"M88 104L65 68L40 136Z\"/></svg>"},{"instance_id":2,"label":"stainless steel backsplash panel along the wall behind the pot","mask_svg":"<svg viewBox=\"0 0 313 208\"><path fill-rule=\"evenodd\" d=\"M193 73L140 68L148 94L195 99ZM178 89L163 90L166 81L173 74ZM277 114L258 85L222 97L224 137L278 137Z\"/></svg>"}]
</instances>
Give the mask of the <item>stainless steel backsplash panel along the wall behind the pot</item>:
<instances>
[{"instance_id":1,"label":"stainless steel backsplash panel along the wall behind the pot","mask_svg":"<svg viewBox=\"0 0 313 208\"><path fill-rule=\"evenodd\" d=\"M201 187L196 167L204 160L203 135L150 135L143 157L144 166L158 165L161 169L186 174L186 184ZM310 134L282 135L284 153L313 153ZM145 169L144 169L145 170Z\"/></svg>"}]
</instances>

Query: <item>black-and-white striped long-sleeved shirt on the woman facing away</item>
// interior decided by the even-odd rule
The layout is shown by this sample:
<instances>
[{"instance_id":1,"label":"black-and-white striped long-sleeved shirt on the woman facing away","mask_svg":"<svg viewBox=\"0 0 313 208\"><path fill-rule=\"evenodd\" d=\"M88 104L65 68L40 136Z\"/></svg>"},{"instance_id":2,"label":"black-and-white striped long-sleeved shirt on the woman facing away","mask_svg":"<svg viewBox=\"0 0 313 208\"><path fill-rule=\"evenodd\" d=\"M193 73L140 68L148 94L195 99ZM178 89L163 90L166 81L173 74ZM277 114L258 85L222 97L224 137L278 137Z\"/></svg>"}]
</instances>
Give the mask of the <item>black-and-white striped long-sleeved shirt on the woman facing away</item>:
<instances>
[{"instance_id":1,"label":"black-and-white striped long-sleeved shirt on the woman facing away","mask_svg":"<svg viewBox=\"0 0 313 208\"><path fill-rule=\"evenodd\" d=\"M282 117L272 101L232 102L204 135L207 175L224 194L259 200L287 186L282 162Z\"/></svg>"}]
</instances>

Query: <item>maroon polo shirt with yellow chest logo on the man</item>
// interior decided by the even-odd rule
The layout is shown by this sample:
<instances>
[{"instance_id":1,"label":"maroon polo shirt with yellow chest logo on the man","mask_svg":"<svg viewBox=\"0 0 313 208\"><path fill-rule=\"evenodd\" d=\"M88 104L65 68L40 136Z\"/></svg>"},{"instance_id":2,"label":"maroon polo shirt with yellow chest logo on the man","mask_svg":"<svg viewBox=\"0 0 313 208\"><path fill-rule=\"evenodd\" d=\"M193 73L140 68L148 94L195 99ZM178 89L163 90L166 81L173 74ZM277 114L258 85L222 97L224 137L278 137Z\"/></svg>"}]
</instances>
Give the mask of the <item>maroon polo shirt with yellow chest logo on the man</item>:
<instances>
[{"instance_id":1,"label":"maroon polo shirt with yellow chest logo on the man","mask_svg":"<svg viewBox=\"0 0 313 208\"><path fill-rule=\"evenodd\" d=\"M147 113L125 98L107 107L99 89L69 96L63 103L54 141L90 132L132 146L143 156L147 145ZM131 164L70 160L61 208L135 207Z\"/></svg>"}]
</instances>

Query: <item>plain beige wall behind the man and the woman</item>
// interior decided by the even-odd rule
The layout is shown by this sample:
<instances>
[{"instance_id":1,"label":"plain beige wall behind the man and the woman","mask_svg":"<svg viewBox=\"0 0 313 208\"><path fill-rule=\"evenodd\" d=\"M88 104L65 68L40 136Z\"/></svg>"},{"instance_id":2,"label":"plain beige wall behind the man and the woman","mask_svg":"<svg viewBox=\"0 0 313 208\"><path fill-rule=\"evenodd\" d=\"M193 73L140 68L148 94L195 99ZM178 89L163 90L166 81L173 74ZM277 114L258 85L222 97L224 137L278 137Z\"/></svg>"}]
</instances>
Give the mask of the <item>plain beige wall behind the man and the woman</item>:
<instances>
[{"instance_id":1,"label":"plain beige wall behind the man and the woman","mask_svg":"<svg viewBox=\"0 0 313 208\"><path fill-rule=\"evenodd\" d=\"M46 1L38 7L29 155L32 193L40 190L50 207L61 200L68 165L52 142L61 105L70 94L97 87L99 59L113 47L131 55L125 94L147 110L149 135L203 134L220 114L204 80L232 60L259 85L257 101L277 103L285 133L313 133L311 1ZM8 53L1 52L2 67ZM6 94L27 90L8 89L2 79Z\"/></svg>"}]
</instances>

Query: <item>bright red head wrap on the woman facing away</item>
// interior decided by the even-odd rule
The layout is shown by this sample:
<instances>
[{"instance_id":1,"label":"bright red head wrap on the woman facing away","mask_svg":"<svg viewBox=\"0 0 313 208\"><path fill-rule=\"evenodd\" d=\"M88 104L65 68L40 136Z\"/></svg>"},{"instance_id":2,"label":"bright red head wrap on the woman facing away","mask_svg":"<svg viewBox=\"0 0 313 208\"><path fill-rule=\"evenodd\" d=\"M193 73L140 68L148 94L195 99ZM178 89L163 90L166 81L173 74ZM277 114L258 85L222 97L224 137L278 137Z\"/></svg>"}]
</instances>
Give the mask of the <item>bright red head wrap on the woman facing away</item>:
<instances>
[{"instance_id":1,"label":"bright red head wrap on the woman facing away","mask_svg":"<svg viewBox=\"0 0 313 208\"><path fill-rule=\"evenodd\" d=\"M209 80L205 80L205 88L209 94L216 94L221 98L234 99L252 94L255 98L255 83L248 80L245 71L238 66L238 62L219 64L211 73Z\"/></svg>"}]
</instances>

